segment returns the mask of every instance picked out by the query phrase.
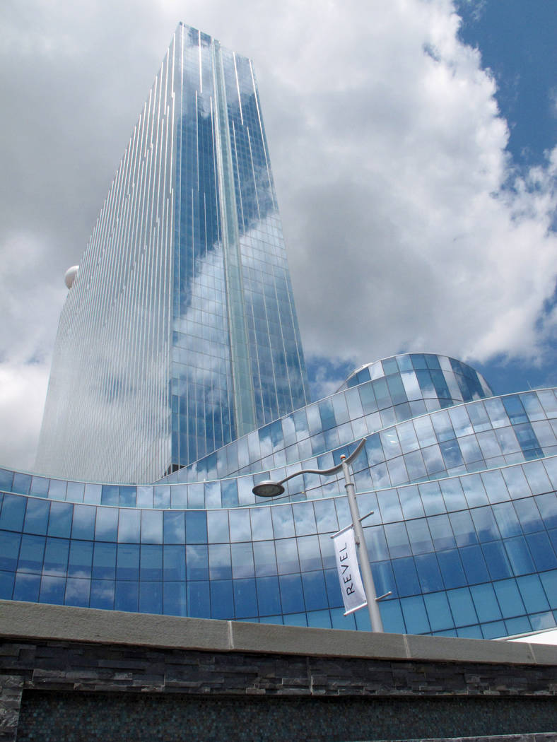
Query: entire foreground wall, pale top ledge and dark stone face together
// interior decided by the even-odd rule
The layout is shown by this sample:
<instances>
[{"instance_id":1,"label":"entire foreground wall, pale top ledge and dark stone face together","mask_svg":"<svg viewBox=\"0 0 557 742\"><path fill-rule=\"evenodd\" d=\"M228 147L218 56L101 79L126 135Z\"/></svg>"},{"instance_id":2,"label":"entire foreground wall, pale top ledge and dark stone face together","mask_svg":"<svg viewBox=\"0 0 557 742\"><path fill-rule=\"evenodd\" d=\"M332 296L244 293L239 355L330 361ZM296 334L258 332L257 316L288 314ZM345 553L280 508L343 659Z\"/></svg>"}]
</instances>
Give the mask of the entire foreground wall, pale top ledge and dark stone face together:
<instances>
[{"instance_id":1,"label":"entire foreground wall, pale top ledge and dark stone face together","mask_svg":"<svg viewBox=\"0 0 557 742\"><path fill-rule=\"evenodd\" d=\"M556 664L542 645L0 602L0 740L547 742Z\"/></svg>"}]
</instances>

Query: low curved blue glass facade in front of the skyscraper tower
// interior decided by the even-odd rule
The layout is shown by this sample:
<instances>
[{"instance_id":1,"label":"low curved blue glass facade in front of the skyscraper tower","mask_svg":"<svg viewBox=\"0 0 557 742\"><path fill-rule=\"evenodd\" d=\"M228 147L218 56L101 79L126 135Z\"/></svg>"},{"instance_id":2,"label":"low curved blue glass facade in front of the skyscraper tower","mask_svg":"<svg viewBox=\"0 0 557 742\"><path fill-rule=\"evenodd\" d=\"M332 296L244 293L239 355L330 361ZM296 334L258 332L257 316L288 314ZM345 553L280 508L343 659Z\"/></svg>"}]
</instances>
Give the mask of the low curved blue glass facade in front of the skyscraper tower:
<instances>
[{"instance_id":1,"label":"low curved blue glass facade in front of the skyscraper tower","mask_svg":"<svg viewBox=\"0 0 557 742\"><path fill-rule=\"evenodd\" d=\"M380 603L385 631L491 638L556 626L556 390L486 396L469 370L462 376L475 401L463 402L418 374L419 364L437 363L447 380L455 361L407 355L382 367L394 362L397 371L381 377L389 407L378 404L377 379L347 384L277 421L282 437L246 436L242 467L229 446L217 452L227 462L220 479L203 481L201 462L198 482L141 486L2 470L0 597L369 628L367 611L343 615L330 536L350 515L336 476L293 479L276 502L251 493L260 479L331 466L367 436L354 477L360 512L374 510L363 525L377 593L392 591ZM391 376L413 381L397 387ZM374 410L364 405L370 390ZM413 402L421 414L377 430ZM296 416L306 424L296 426ZM350 440L339 445L340 436ZM303 441L320 453L287 464L288 447ZM234 467L251 473L230 476Z\"/></svg>"}]
</instances>

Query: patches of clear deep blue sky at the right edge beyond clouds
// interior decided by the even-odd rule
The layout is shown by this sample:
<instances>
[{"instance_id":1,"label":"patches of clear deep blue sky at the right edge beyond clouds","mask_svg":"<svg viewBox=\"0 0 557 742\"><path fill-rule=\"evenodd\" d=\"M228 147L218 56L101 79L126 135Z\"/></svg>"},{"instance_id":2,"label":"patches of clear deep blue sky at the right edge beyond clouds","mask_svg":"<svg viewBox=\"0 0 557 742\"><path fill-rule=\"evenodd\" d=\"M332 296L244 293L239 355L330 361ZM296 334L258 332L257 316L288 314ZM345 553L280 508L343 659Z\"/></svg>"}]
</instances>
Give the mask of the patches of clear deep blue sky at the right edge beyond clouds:
<instances>
[{"instance_id":1,"label":"patches of clear deep blue sky at the right edge beyond clouds","mask_svg":"<svg viewBox=\"0 0 557 742\"><path fill-rule=\"evenodd\" d=\"M460 39L480 50L483 67L495 77L515 167L540 165L557 142L557 4L461 0L457 9L463 18ZM557 338L539 367L501 356L475 366L501 394L557 386Z\"/></svg>"}]
</instances>

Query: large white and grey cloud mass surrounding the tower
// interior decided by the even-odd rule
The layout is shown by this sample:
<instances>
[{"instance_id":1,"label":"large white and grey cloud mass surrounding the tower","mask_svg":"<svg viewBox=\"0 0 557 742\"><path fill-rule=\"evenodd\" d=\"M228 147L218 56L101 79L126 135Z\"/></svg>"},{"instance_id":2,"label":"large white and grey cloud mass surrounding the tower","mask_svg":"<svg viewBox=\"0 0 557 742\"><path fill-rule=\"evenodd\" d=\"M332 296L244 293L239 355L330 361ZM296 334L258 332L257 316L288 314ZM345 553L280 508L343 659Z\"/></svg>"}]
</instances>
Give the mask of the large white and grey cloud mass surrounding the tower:
<instances>
[{"instance_id":1,"label":"large white and grey cloud mass surrounding the tower","mask_svg":"<svg viewBox=\"0 0 557 742\"><path fill-rule=\"evenodd\" d=\"M0 16L0 461L32 445L62 276L179 20L255 61L308 353L539 360L555 341L557 155L513 171L449 0L8 0Z\"/></svg>"}]
</instances>

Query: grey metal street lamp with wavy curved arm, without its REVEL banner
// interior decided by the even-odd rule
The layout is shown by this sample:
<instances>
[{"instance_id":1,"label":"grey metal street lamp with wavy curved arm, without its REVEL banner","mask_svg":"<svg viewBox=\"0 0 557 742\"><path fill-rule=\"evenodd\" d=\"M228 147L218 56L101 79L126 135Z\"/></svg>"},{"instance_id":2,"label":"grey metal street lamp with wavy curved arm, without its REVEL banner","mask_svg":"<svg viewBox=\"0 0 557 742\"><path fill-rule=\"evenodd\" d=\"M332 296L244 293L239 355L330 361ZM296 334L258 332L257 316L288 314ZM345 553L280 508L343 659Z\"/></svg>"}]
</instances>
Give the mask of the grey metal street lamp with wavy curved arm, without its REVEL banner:
<instances>
[{"instance_id":1,"label":"grey metal street lamp with wavy curved arm, without its REVEL banner","mask_svg":"<svg viewBox=\"0 0 557 742\"><path fill-rule=\"evenodd\" d=\"M359 516L354 483L352 482L350 469L348 468L349 464L351 464L351 462L353 462L354 459L359 456L359 452L362 450L364 445L365 438L359 441L359 444L356 446L351 455L348 456L348 458L346 456L341 456L340 464L336 464L336 466L333 466L331 469L301 469L294 472L293 474L290 474L289 476L285 476L284 479L280 480L280 482L272 482L270 479L267 479L264 482L259 482L258 485L255 485L255 487L253 487L252 492L258 497L276 497L284 493L284 487L282 486L284 485L284 482L287 482L289 479L293 479L293 477L295 476L299 476L299 474L323 474L325 476L328 476L329 474L334 474L342 469L342 474L344 475L345 479L345 490L348 497L348 505L350 506L350 514L352 517L352 527L354 528L354 540L356 541L359 552L359 566L362 571L362 583L365 591L365 599L368 603L369 618L371 620L371 631L382 632L383 623L381 620L379 606L377 605L377 600L380 599L377 598L377 594L375 592L374 576L373 574L371 574L368 548L365 544L364 532L362 529L363 518L360 518ZM367 518L368 515L371 515L371 513L367 513L367 515L365 515L364 517ZM382 595L381 597L386 596Z\"/></svg>"}]
</instances>

